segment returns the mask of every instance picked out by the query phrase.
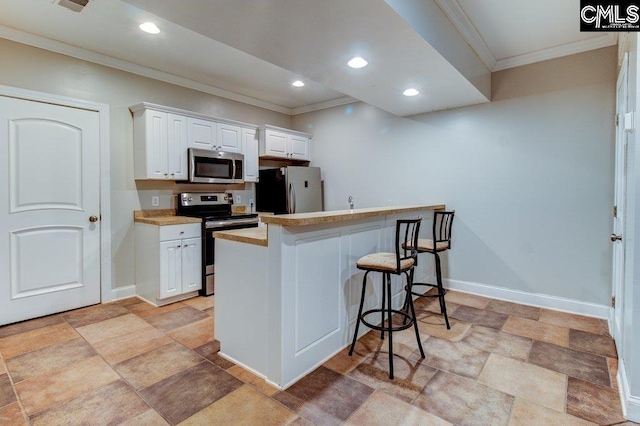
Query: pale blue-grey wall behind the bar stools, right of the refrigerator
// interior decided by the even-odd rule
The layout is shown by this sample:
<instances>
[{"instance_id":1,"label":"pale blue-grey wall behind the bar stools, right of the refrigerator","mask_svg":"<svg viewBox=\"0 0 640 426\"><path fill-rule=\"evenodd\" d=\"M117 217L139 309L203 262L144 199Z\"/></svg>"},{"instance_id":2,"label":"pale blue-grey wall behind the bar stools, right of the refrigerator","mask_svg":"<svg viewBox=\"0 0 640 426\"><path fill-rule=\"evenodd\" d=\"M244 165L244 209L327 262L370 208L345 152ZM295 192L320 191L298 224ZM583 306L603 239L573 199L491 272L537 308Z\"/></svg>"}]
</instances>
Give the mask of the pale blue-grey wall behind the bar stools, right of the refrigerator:
<instances>
[{"instance_id":1,"label":"pale blue-grey wall behind the bar stools, right of the refrigerator","mask_svg":"<svg viewBox=\"0 0 640 426\"><path fill-rule=\"evenodd\" d=\"M349 195L356 207L444 202L456 210L449 278L606 305L615 55L494 73L491 104L399 118L355 103L293 124L314 134L326 209Z\"/></svg>"}]
</instances>

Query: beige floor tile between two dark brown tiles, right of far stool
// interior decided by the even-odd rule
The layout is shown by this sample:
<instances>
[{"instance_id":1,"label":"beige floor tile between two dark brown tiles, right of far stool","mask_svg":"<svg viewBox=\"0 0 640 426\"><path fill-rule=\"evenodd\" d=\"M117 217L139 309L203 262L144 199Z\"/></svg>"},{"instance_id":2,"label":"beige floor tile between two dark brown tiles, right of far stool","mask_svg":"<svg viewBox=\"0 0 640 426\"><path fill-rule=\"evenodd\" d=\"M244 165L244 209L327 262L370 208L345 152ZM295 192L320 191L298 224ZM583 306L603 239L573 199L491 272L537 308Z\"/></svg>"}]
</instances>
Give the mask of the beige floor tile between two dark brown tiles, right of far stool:
<instances>
[{"instance_id":1,"label":"beige floor tile between two dark brown tiles, right of far stool","mask_svg":"<svg viewBox=\"0 0 640 426\"><path fill-rule=\"evenodd\" d=\"M503 333L494 328L474 325L464 342L483 351L526 361L533 340Z\"/></svg>"}]
</instances>

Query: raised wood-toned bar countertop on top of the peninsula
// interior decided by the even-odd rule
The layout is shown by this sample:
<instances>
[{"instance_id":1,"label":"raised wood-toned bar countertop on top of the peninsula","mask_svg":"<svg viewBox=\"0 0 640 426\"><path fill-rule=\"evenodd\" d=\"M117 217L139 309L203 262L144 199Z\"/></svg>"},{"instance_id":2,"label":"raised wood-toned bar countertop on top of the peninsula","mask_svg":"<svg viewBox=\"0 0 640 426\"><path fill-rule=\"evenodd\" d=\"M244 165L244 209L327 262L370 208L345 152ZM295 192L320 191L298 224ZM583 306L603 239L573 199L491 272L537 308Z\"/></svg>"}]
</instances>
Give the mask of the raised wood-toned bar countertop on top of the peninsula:
<instances>
[{"instance_id":1,"label":"raised wood-toned bar countertop on top of the peninsula","mask_svg":"<svg viewBox=\"0 0 640 426\"><path fill-rule=\"evenodd\" d=\"M388 214L410 213L419 210L442 210L444 204L432 204L421 206L390 206L372 207L366 209L353 210L332 210L312 213L281 214L275 216L262 216L260 220L267 224L282 226L306 226L318 225L331 222L342 222L346 220L364 219L367 217L384 216Z\"/></svg>"}]
</instances>

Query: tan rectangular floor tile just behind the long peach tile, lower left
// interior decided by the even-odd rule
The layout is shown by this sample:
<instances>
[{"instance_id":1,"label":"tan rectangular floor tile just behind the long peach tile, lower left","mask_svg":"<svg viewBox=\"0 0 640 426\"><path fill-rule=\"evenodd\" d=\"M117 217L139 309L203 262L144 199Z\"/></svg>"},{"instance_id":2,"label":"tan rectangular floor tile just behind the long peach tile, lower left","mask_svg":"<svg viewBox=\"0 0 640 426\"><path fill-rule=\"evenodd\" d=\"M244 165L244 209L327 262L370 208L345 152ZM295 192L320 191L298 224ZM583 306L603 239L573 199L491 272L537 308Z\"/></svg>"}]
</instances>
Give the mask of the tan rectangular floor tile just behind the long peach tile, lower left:
<instances>
[{"instance_id":1,"label":"tan rectangular floor tile just behind the long peach tile, lower left","mask_svg":"<svg viewBox=\"0 0 640 426\"><path fill-rule=\"evenodd\" d=\"M13 357L7 361L7 368L13 382L18 383L30 377L53 373L96 355L91 345L78 337Z\"/></svg>"}]
</instances>

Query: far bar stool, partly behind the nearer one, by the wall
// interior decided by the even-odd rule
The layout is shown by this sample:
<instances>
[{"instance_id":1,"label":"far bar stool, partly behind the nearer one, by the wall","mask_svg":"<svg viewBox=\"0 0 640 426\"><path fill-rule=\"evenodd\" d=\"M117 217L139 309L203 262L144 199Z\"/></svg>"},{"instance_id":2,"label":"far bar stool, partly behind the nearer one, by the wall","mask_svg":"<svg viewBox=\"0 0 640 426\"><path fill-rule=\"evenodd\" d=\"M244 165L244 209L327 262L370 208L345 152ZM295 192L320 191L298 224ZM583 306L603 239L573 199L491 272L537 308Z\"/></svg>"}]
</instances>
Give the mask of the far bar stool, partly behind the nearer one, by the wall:
<instances>
[{"instance_id":1,"label":"far bar stool, partly behind the nearer one, by the wall","mask_svg":"<svg viewBox=\"0 0 640 426\"><path fill-rule=\"evenodd\" d=\"M408 301L413 299L410 295L418 296L418 297L437 297L440 302L440 313L444 315L445 323L447 324L447 329L450 329L449 326L449 317L447 316L447 306L444 301L444 295L447 293L445 288L442 286L442 268L440 266L440 255L439 253L443 251L447 251L451 248L451 227L453 225L453 217L455 216L455 211L436 211L433 214L433 238L420 238L418 239L418 253L431 253L434 255L436 260L436 283L414 283L411 282L407 286L407 300L405 301L405 306L403 310L406 312L409 308ZM436 293L425 294L414 291L414 287L420 286L428 286L437 289ZM411 307L413 309L413 307Z\"/></svg>"}]
</instances>

